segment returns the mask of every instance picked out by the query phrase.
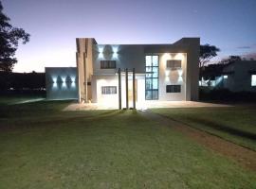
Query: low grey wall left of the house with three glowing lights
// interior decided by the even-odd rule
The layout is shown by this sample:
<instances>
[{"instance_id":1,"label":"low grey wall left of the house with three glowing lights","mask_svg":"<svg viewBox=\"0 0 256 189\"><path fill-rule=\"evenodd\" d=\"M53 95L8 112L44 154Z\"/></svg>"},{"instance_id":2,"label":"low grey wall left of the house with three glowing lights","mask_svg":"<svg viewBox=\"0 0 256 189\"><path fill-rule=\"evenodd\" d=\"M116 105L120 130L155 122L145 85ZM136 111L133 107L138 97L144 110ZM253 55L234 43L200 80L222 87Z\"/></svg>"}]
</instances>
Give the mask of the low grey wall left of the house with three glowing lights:
<instances>
[{"instance_id":1,"label":"low grey wall left of the house with three glowing lights","mask_svg":"<svg viewBox=\"0 0 256 189\"><path fill-rule=\"evenodd\" d=\"M46 67L46 99L78 99L76 67Z\"/></svg>"}]
</instances>

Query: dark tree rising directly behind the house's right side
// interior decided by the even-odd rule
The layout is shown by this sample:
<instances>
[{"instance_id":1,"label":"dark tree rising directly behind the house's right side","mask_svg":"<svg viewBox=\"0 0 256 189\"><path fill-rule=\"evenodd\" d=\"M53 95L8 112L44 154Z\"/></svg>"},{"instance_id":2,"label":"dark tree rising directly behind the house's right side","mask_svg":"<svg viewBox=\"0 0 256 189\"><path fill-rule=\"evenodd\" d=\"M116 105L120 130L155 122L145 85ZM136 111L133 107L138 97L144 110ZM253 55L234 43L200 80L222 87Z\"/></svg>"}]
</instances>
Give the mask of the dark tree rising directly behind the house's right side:
<instances>
[{"instance_id":1,"label":"dark tree rising directly behind the house's right side","mask_svg":"<svg viewBox=\"0 0 256 189\"><path fill-rule=\"evenodd\" d=\"M209 62L213 57L217 56L217 52L219 51L219 48L208 43L200 45L199 67L204 67L207 62Z\"/></svg>"}]
</instances>

